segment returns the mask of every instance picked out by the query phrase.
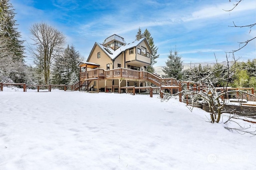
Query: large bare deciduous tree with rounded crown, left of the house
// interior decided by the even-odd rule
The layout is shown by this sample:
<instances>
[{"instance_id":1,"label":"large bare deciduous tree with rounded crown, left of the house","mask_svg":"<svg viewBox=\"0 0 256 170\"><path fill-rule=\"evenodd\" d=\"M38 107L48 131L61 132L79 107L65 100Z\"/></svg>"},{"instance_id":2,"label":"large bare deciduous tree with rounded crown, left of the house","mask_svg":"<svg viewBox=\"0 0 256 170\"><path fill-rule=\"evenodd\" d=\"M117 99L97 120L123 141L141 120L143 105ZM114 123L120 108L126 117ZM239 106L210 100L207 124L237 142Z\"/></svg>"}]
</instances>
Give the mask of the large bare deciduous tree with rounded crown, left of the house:
<instances>
[{"instance_id":1,"label":"large bare deciduous tree with rounded crown, left of the house","mask_svg":"<svg viewBox=\"0 0 256 170\"><path fill-rule=\"evenodd\" d=\"M44 83L49 84L51 63L63 51L66 37L62 32L46 23L35 23L30 28L30 33L32 35L31 39L35 42L34 45L36 45L36 49L31 50L32 55L35 62L41 62L40 64L42 64L44 72Z\"/></svg>"}]
</instances>

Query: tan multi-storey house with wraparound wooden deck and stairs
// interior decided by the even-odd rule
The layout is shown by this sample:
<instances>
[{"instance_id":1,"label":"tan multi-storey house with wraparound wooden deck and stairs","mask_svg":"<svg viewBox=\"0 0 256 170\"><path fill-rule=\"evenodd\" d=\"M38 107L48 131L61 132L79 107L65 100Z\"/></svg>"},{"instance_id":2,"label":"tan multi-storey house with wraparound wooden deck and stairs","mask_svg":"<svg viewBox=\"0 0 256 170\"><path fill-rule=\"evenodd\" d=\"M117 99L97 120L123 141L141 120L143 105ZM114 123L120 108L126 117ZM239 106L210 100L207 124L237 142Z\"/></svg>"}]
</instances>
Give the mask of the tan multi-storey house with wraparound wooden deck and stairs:
<instances>
[{"instance_id":1,"label":"tan multi-storey house with wraparound wooden deck and stairs","mask_svg":"<svg viewBox=\"0 0 256 170\"><path fill-rule=\"evenodd\" d=\"M104 44L94 43L87 61L78 63L80 81L75 90L84 86L86 90L98 92L124 92L122 87L146 87L150 83L177 86L175 78L162 78L145 71L151 54L145 38L127 44L123 37L114 34L106 38Z\"/></svg>"}]
</instances>

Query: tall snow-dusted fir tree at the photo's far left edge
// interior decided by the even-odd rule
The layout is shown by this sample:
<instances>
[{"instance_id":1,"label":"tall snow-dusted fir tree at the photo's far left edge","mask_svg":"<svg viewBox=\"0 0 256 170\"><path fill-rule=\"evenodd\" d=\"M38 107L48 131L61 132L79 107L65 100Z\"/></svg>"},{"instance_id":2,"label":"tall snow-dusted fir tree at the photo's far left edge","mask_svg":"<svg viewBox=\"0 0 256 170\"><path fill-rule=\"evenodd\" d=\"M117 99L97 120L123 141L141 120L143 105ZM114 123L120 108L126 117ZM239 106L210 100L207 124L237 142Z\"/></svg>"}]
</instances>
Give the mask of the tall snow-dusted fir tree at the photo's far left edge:
<instances>
[{"instance_id":1,"label":"tall snow-dusted fir tree at the photo's far left edge","mask_svg":"<svg viewBox=\"0 0 256 170\"><path fill-rule=\"evenodd\" d=\"M9 0L0 0L0 81L26 82L24 46L14 20L15 12Z\"/></svg>"}]
</instances>

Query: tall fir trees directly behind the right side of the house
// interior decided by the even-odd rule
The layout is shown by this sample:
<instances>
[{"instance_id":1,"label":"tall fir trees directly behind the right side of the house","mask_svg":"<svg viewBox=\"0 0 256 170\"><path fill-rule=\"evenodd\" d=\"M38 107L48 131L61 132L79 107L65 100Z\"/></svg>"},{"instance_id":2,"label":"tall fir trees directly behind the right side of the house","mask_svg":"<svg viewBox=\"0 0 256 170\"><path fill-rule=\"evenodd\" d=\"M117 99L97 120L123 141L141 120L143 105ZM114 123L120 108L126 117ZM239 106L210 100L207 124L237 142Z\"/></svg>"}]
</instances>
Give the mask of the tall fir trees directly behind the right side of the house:
<instances>
[{"instance_id":1,"label":"tall fir trees directly behind the right side of the house","mask_svg":"<svg viewBox=\"0 0 256 170\"><path fill-rule=\"evenodd\" d=\"M151 36L151 33L148 31L148 29L145 29L144 33L141 34L141 29L138 29L137 35L136 35L136 40L142 39L142 38L146 38L146 40L148 41L148 45L150 46L150 49L152 51L152 54L150 56L150 65L147 66L147 70L148 72L155 72L155 69L153 67L154 64L156 64L156 59L159 57L159 55L157 55L157 50L158 48L155 47L154 45L154 39Z\"/></svg>"}]
</instances>

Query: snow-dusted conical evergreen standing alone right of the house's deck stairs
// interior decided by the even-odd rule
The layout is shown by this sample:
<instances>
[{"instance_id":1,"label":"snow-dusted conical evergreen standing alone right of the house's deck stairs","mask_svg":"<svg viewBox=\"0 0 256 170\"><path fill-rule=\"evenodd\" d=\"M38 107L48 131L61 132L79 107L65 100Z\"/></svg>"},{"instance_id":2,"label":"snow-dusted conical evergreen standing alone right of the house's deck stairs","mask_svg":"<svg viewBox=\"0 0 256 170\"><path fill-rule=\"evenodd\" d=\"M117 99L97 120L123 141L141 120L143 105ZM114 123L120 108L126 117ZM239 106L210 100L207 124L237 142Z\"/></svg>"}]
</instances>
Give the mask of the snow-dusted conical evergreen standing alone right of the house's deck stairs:
<instances>
[{"instance_id":1,"label":"snow-dusted conical evergreen standing alone right of the house's deck stairs","mask_svg":"<svg viewBox=\"0 0 256 170\"><path fill-rule=\"evenodd\" d=\"M168 55L168 60L166 66L162 69L165 73L165 78L177 78L177 80L182 79L182 61L181 57L178 55L178 51L175 49L173 52L170 50L170 54Z\"/></svg>"}]
</instances>

